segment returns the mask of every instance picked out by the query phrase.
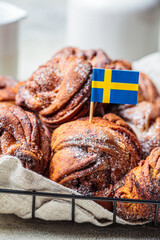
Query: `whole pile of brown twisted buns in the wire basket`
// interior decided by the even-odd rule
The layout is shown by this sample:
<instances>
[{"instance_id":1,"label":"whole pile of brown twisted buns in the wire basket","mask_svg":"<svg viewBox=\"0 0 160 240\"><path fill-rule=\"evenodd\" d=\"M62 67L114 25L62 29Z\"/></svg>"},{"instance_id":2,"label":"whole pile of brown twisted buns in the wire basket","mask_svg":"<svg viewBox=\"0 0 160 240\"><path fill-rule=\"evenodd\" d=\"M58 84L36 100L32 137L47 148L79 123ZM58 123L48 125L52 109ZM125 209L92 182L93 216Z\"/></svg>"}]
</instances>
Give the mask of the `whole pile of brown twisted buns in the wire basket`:
<instances>
[{"instance_id":1,"label":"whole pile of brown twisted buns in the wire basket","mask_svg":"<svg viewBox=\"0 0 160 240\"><path fill-rule=\"evenodd\" d=\"M156 86L140 73L136 106L97 103L89 123L93 67L132 70L102 50L68 47L25 82L1 76L0 155L84 195L160 200ZM117 214L153 220L155 206L119 202Z\"/></svg>"}]
</instances>

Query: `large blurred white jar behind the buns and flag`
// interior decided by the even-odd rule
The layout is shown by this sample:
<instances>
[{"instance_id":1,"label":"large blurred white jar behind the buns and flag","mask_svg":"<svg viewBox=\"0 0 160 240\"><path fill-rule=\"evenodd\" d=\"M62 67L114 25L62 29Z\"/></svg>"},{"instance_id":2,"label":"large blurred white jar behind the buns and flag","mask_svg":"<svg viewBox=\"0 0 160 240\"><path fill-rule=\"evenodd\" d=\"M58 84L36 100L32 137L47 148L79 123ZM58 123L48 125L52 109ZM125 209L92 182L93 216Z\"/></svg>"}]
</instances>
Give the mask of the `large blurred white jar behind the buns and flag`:
<instances>
[{"instance_id":1,"label":"large blurred white jar behind the buns and flag","mask_svg":"<svg viewBox=\"0 0 160 240\"><path fill-rule=\"evenodd\" d=\"M69 0L67 44L136 60L158 50L159 0Z\"/></svg>"}]
</instances>

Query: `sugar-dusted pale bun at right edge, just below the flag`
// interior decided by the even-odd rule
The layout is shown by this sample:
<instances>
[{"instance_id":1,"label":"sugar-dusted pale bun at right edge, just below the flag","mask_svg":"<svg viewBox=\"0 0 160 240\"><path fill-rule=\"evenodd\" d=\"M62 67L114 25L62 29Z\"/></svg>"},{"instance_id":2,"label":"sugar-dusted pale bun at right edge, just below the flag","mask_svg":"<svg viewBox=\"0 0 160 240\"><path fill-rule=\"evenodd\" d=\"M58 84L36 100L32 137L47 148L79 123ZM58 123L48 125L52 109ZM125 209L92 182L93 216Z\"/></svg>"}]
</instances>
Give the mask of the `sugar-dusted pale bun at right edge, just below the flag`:
<instances>
[{"instance_id":1,"label":"sugar-dusted pale bun at right edge, just below the flag","mask_svg":"<svg viewBox=\"0 0 160 240\"><path fill-rule=\"evenodd\" d=\"M159 98L152 102L140 102L136 106L119 105L117 114L120 115L137 134L144 158L160 146L160 102Z\"/></svg>"}]
</instances>

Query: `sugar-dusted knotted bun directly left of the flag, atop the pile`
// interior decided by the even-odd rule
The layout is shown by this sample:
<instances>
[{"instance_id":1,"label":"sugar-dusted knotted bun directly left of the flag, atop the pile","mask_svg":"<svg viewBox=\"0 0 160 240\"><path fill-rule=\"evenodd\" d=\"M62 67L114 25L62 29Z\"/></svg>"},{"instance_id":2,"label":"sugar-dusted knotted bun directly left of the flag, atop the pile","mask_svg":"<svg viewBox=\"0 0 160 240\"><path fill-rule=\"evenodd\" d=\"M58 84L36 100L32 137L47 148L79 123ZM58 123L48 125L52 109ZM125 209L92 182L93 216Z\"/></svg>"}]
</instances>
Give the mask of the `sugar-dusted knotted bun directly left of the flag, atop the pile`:
<instances>
[{"instance_id":1,"label":"sugar-dusted knotted bun directly left of the flag, atop the pile","mask_svg":"<svg viewBox=\"0 0 160 240\"><path fill-rule=\"evenodd\" d=\"M53 57L19 88L16 103L37 112L46 126L55 128L88 113L91 78L88 61Z\"/></svg>"}]
</instances>

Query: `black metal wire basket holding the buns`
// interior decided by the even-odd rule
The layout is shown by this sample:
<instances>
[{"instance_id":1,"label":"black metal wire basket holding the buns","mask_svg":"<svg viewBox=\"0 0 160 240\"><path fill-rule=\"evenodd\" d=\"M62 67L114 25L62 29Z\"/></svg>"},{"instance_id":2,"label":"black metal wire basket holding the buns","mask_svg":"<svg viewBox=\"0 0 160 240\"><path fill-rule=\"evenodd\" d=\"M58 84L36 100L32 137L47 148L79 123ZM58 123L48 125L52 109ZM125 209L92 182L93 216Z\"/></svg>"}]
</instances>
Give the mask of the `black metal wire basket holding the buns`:
<instances>
[{"instance_id":1,"label":"black metal wire basket holding the buns","mask_svg":"<svg viewBox=\"0 0 160 240\"><path fill-rule=\"evenodd\" d=\"M54 197L54 198L62 198L62 199L70 199L71 204L71 221L75 222L75 200L95 200L95 201L106 201L106 202L113 202L113 225L116 225L116 208L117 202L124 202L124 203L139 203L139 204L153 204L155 205L155 217L152 226L153 227L160 227L158 223L158 211L160 200L158 201L151 201L151 200L141 200L141 199L125 199L125 198L106 198L106 197L93 197L93 196L84 196L84 195L75 195L75 194L59 194L59 193L51 193L51 192L37 192L37 191L22 191L22 190L13 190L13 189L0 189L0 193L3 194L18 194L18 195L28 195L32 196L32 219L35 218L35 206L36 206L36 197Z\"/></svg>"}]
</instances>

